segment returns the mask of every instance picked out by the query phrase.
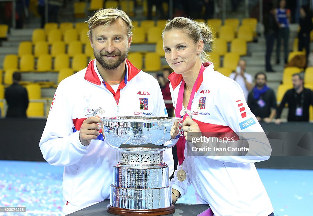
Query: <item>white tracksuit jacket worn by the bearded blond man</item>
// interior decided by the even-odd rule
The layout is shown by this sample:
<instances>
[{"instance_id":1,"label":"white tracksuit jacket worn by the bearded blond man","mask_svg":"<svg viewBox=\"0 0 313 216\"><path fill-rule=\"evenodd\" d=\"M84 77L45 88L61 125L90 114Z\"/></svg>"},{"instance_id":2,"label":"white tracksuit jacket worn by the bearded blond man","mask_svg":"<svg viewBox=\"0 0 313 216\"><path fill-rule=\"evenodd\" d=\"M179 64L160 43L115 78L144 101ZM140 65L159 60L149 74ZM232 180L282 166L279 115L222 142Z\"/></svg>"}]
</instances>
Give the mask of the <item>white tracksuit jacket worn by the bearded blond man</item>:
<instances>
[{"instance_id":1,"label":"white tracksuit jacket worn by the bearded blond man","mask_svg":"<svg viewBox=\"0 0 313 216\"><path fill-rule=\"evenodd\" d=\"M117 105L118 98L109 91L110 86L105 87L92 60L87 68L64 79L55 92L39 146L48 163L64 166L65 214L110 198L117 151L103 141L101 133L88 146L79 140L80 126L95 108L104 109L103 117L167 116L157 80L127 59L126 77L121 84L125 87ZM140 109L139 98L148 98L144 109ZM164 161L170 166L171 175L174 169L171 149L165 151Z\"/></svg>"}]
</instances>

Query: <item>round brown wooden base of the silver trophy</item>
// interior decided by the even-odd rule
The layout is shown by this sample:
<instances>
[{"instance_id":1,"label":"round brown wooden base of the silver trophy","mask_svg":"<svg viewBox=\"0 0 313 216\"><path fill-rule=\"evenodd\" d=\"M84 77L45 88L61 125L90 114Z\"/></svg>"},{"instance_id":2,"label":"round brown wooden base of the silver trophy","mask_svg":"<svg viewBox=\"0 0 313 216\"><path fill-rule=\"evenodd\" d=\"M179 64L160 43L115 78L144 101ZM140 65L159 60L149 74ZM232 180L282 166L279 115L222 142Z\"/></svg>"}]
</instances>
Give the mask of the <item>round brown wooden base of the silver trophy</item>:
<instances>
[{"instance_id":1,"label":"round brown wooden base of the silver trophy","mask_svg":"<svg viewBox=\"0 0 313 216\"><path fill-rule=\"evenodd\" d=\"M126 208L117 208L113 207L110 204L107 206L107 210L111 214L116 215L134 215L134 216L141 216L141 215L149 215L149 216L158 216L158 215L166 215L172 214L175 212L175 206L171 204L170 207L167 208L157 208L157 209L126 209Z\"/></svg>"}]
</instances>

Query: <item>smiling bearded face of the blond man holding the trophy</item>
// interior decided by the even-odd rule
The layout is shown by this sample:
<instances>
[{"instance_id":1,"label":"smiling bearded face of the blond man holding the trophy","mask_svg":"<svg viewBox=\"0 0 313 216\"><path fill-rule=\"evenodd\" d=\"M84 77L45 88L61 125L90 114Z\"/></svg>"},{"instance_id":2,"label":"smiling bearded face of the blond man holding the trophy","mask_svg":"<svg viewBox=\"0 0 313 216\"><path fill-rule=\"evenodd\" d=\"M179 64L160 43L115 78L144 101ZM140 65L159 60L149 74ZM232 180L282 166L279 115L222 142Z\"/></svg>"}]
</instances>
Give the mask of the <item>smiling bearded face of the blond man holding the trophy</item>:
<instances>
[{"instance_id":1,"label":"smiling bearded face of the blond man holding the trophy","mask_svg":"<svg viewBox=\"0 0 313 216\"><path fill-rule=\"evenodd\" d=\"M131 46L127 37L127 25L121 19L109 25L98 25L92 29L90 44L101 66L108 70L116 69L125 61Z\"/></svg>"}]
</instances>

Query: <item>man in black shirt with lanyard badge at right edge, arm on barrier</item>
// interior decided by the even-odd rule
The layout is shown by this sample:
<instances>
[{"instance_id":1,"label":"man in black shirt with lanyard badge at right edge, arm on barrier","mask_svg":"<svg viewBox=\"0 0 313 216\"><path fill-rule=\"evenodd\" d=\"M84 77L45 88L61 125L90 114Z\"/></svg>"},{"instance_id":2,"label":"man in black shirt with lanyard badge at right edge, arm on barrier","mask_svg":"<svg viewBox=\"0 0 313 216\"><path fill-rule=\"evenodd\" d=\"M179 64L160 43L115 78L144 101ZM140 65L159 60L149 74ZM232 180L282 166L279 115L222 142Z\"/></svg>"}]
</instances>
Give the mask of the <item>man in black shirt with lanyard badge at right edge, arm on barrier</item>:
<instances>
[{"instance_id":1,"label":"man in black shirt with lanyard badge at right edge, arm on barrier","mask_svg":"<svg viewBox=\"0 0 313 216\"><path fill-rule=\"evenodd\" d=\"M303 78L300 73L295 73L292 75L292 85L293 89L289 89L277 110L277 116L275 123L280 124L280 114L283 108L285 107L285 103L288 103L289 111L288 111L288 121L309 121L309 107L310 104L313 104L313 94L312 91L308 88L303 87Z\"/></svg>"}]
</instances>

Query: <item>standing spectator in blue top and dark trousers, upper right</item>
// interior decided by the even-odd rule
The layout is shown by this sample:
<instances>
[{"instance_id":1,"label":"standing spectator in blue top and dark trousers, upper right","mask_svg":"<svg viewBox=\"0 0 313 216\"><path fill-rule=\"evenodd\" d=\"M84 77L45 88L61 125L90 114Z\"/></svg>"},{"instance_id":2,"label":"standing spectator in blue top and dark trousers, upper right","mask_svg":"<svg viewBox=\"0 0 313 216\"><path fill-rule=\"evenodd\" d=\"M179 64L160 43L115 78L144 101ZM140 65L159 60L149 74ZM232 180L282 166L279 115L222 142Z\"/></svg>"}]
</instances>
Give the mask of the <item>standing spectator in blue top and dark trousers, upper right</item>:
<instances>
[{"instance_id":1,"label":"standing spectator in blue top and dark trousers, upper right","mask_svg":"<svg viewBox=\"0 0 313 216\"><path fill-rule=\"evenodd\" d=\"M284 40L284 60L285 64L288 62L288 41L289 41L289 24L290 24L290 10L286 9L286 1L280 0L279 8L276 9L276 20L279 23L277 48L276 48L276 64L280 63L280 45L281 39Z\"/></svg>"}]
</instances>

